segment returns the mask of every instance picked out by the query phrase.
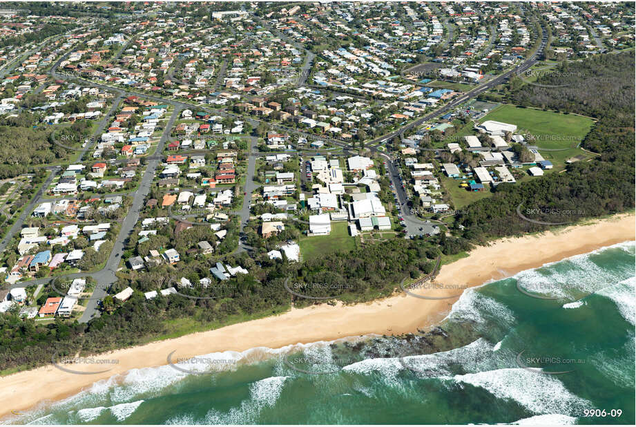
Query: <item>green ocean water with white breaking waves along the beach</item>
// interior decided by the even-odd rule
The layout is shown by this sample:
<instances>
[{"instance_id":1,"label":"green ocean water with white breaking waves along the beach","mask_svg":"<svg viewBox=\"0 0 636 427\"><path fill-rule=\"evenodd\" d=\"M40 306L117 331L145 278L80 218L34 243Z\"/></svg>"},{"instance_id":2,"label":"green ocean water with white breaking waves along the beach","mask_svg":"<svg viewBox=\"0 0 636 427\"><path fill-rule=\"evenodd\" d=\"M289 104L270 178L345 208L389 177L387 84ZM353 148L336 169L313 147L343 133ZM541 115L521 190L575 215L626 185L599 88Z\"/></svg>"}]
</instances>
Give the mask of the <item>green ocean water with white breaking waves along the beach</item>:
<instances>
[{"instance_id":1,"label":"green ocean water with white breaking waves along the beach","mask_svg":"<svg viewBox=\"0 0 636 427\"><path fill-rule=\"evenodd\" d=\"M439 328L133 370L5 424L634 424L635 243L465 291Z\"/></svg>"}]
</instances>

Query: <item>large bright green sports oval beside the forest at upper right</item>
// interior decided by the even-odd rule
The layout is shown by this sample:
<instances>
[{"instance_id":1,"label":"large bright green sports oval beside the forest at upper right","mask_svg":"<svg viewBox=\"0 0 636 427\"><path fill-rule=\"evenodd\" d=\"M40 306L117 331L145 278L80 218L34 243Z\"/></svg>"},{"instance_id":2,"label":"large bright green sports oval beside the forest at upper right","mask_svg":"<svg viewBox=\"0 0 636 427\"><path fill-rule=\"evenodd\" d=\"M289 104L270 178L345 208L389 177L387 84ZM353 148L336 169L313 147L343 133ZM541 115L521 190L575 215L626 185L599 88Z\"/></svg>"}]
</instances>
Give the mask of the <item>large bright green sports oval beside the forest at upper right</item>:
<instances>
[{"instance_id":1,"label":"large bright green sports oval beside the forest at upper right","mask_svg":"<svg viewBox=\"0 0 636 427\"><path fill-rule=\"evenodd\" d=\"M527 131L537 137L535 144L543 149L577 146L590 132L594 123L588 117L580 115L518 108L513 105L502 105L485 115L479 122L485 120L516 124L519 133Z\"/></svg>"}]
</instances>

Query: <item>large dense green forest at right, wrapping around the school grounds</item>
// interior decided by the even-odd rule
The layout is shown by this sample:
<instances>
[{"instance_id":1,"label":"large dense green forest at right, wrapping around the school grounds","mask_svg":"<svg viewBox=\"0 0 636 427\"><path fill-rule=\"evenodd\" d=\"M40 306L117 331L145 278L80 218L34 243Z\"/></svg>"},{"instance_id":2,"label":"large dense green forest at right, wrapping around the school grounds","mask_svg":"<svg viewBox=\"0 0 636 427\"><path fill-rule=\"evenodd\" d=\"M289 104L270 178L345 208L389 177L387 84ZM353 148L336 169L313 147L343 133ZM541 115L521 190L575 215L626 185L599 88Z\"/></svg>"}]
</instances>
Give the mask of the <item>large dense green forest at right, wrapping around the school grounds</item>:
<instances>
[{"instance_id":1,"label":"large dense green forest at right, wrapping around the school grounds","mask_svg":"<svg viewBox=\"0 0 636 427\"><path fill-rule=\"evenodd\" d=\"M492 197L463 209L457 215L458 223L465 227L463 237L474 243L552 227L523 220L517 214L519 205L523 212L540 209L541 215L528 218L552 223L634 207L633 53L566 62L559 73L542 76L537 82L559 87L523 85L511 91L508 101L595 117L598 121L581 146L600 155L590 162L569 164L566 173L548 174L521 185L500 184Z\"/></svg>"}]
</instances>

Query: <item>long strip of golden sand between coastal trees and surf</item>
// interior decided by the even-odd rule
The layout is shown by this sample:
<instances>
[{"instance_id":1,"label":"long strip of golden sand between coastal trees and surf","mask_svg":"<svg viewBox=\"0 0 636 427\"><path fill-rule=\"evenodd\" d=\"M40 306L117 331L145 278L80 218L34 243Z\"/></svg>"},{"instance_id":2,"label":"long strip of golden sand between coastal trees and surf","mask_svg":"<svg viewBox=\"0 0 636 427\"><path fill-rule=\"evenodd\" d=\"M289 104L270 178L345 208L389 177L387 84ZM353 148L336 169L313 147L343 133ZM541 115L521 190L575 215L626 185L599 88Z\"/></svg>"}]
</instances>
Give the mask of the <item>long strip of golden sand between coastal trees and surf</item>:
<instances>
[{"instance_id":1,"label":"long strip of golden sand between coastal trees and surf","mask_svg":"<svg viewBox=\"0 0 636 427\"><path fill-rule=\"evenodd\" d=\"M488 247L478 247L470 256L445 265L437 283L462 287L513 276L569 256L634 240L635 216L614 216L589 225L578 225L536 236L505 238ZM181 336L147 345L117 350L102 356L118 363L101 374L73 374L54 366L19 372L0 378L0 415L26 410L45 399L61 399L88 388L100 379L150 366L166 365L168 354L176 358L195 357L226 350L244 351L256 347L280 348L296 343L331 341L364 334L403 334L427 330L450 311L461 290L416 290L427 296L450 296L441 300L397 294L390 298L357 305L316 305L291 310L279 316L238 323L218 330ZM108 366L106 368L110 368ZM106 369L103 366L96 370Z\"/></svg>"}]
</instances>

